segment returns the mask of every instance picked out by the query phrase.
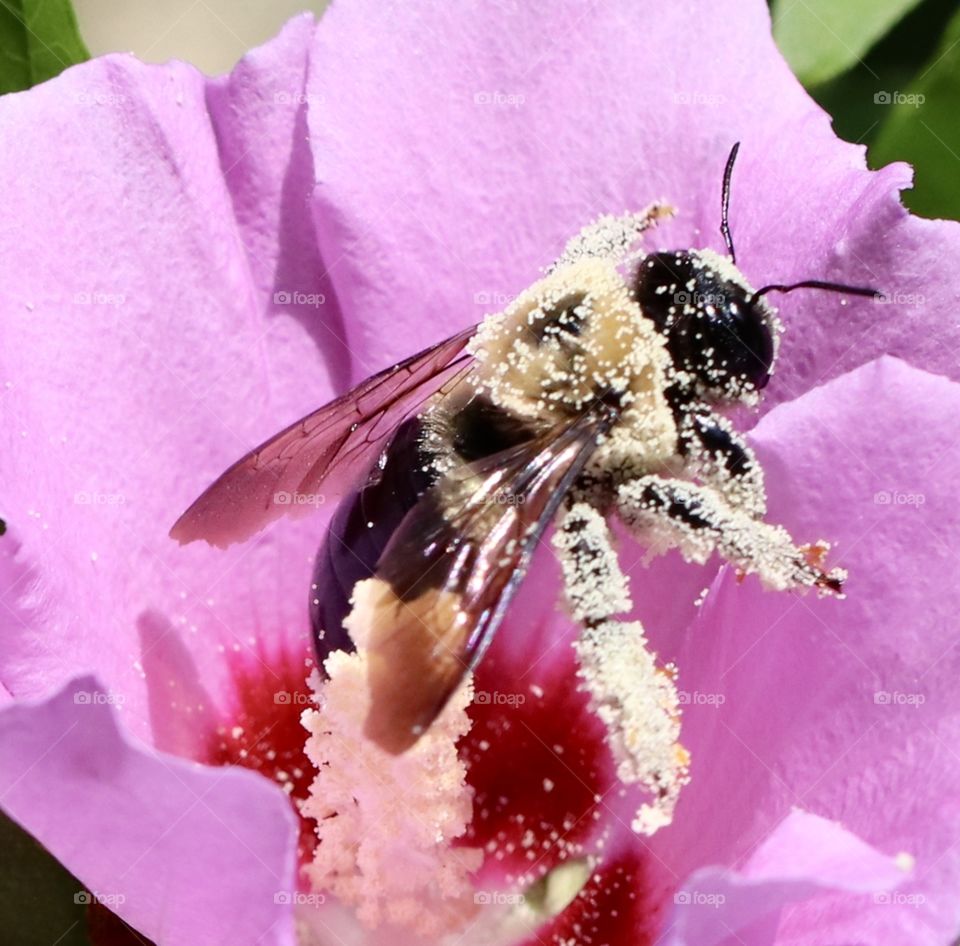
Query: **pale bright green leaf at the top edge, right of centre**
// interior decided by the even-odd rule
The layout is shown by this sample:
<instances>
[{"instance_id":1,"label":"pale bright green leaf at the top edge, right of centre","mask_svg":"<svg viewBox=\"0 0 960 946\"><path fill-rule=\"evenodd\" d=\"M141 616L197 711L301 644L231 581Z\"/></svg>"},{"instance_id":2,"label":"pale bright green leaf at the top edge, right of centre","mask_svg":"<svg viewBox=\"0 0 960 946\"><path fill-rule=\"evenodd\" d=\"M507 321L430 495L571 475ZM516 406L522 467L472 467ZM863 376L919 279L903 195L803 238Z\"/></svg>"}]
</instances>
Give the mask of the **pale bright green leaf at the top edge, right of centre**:
<instances>
[{"instance_id":1,"label":"pale bright green leaf at the top edge, right of centre","mask_svg":"<svg viewBox=\"0 0 960 946\"><path fill-rule=\"evenodd\" d=\"M804 85L861 61L920 0L773 0L773 35Z\"/></svg>"}]
</instances>

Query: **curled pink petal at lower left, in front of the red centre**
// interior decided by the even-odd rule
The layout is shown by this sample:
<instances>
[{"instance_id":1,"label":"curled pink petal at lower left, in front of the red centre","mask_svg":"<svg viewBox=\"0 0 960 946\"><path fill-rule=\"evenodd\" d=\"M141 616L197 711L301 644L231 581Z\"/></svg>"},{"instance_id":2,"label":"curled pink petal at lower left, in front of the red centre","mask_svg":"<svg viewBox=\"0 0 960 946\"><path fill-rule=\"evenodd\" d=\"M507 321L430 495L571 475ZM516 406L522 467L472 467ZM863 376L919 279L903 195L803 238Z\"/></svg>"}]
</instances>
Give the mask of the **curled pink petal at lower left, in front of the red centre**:
<instances>
[{"instance_id":1,"label":"curled pink petal at lower left, in front of the red centre","mask_svg":"<svg viewBox=\"0 0 960 946\"><path fill-rule=\"evenodd\" d=\"M292 946L296 825L281 793L134 742L116 699L84 676L0 711L4 810L158 943Z\"/></svg>"}]
</instances>

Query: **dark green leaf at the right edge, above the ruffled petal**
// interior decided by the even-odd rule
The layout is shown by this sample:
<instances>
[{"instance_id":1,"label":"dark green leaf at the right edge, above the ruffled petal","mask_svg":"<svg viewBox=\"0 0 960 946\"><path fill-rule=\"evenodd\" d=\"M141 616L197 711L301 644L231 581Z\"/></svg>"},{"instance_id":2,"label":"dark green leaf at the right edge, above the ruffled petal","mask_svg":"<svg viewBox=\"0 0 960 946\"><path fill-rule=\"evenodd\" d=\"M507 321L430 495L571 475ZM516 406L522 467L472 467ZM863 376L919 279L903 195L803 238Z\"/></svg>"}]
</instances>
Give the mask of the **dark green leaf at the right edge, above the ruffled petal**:
<instances>
[{"instance_id":1,"label":"dark green leaf at the right edge, above the ruffled petal","mask_svg":"<svg viewBox=\"0 0 960 946\"><path fill-rule=\"evenodd\" d=\"M915 183L904 203L928 217L960 218L960 13L909 86L884 95L887 114L870 149L870 163L910 162Z\"/></svg>"}]
</instances>

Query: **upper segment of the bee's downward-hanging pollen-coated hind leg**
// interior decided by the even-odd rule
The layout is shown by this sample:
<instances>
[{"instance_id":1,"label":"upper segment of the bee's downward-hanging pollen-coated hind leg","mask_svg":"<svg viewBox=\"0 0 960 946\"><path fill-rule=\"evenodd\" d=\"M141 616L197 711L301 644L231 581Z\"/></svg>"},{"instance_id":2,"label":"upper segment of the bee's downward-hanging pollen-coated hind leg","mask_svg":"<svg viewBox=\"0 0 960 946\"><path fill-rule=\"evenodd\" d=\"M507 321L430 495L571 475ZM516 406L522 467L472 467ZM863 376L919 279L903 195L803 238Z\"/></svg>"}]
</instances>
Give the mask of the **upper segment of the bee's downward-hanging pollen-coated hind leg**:
<instances>
[{"instance_id":1,"label":"upper segment of the bee's downward-hanging pollen-coated hind leg","mask_svg":"<svg viewBox=\"0 0 960 946\"><path fill-rule=\"evenodd\" d=\"M633 607L610 529L593 506L568 505L552 542L563 569L567 607L578 624L596 627Z\"/></svg>"}]
</instances>

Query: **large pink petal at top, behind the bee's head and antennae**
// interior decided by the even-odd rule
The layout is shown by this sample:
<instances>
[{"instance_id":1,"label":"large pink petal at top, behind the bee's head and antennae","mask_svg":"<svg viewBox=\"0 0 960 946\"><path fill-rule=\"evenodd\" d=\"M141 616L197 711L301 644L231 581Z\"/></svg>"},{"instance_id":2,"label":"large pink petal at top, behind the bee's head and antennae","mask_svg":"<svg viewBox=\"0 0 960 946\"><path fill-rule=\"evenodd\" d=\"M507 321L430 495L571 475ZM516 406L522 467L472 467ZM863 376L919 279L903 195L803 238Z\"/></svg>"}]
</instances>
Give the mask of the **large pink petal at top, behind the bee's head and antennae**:
<instances>
[{"instance_id":1,"label":"large pink petal at top, behind the bee's head and antennae","mask_svg":"<svg viewBox=\"0 0 960 946\"><path fill-rule=\"evenodd\" d=\"M864 148L834 136L761 0L358 0L325 15L316 55L321 247L338 254L348 341L375 343L383 363L503 308L600 213L666 197L680 215L659 245L722 246L720 178L741 140L732 226L756 285L819 277L898 294L845 309L831 294L785 297L771 397L884 352L958 374L960 225L909 217L906 166L869 172Z\"/></svg>"}]
</instances>

